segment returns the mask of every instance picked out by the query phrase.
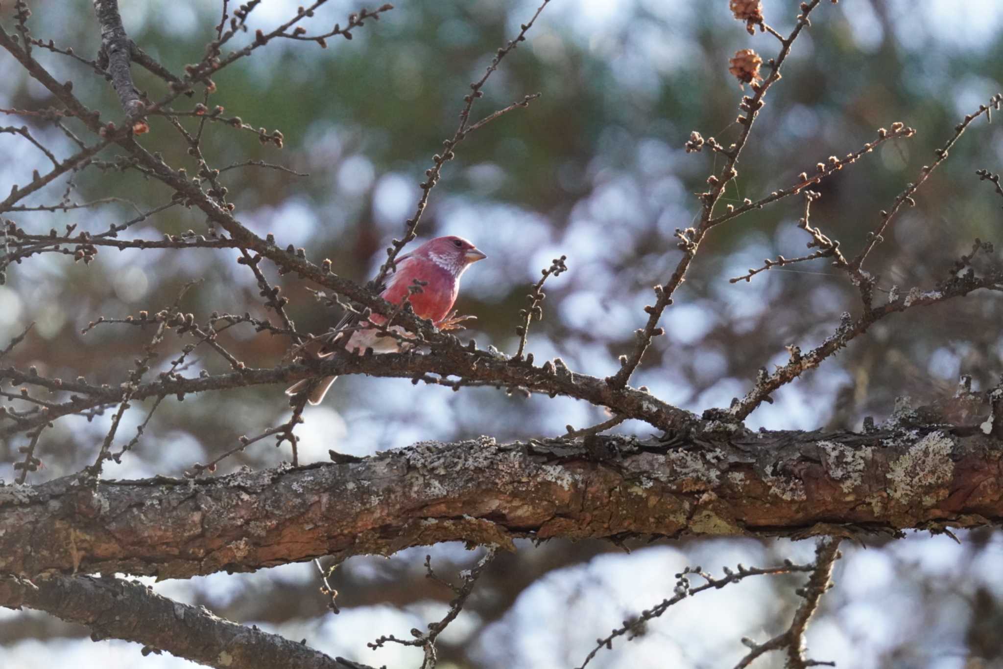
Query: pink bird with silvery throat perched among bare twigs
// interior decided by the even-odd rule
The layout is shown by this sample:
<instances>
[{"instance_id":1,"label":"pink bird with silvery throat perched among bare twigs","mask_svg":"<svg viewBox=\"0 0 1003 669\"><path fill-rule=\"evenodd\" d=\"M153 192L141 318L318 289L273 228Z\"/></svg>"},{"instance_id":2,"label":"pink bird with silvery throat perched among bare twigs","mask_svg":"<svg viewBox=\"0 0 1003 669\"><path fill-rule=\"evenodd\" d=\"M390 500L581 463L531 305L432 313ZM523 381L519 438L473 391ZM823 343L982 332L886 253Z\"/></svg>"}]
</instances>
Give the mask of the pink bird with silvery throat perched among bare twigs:
<instances>
[{"instance_id":1,"label":"pink bird with silvery throat perched among bare twigs","mask_svg":"<svg viewBox=\"0 0 1003 669\"><path fill-rule=\"evenodd\" d=\"M380 296L394 304L401 303L408 297L408 287L414 285L414 281L422 281L421 292L410 295L408 301L414 309L415 314L421 318L428 318L436 326L452 324L456 320L447 318L449 309L456 301L456 294L459 292L459 277L466 271L466 268L477 260L487 257L477 250L477 247L462 237L446 236L435 237L415 248L410 253L405 253L397 258L397 269L390 276ZM341 327L348 320L348 315L338 323ZM369 320L376 324L386 322L386 318L379 313L373 313ZM394 331L403 331L400 327L394 326ZM352 332L345 349L352 351L358 349L363 353L366 349L372 349L376 354L390 354L400 351L400 343L392 337L378 337L379 330L375 327L357 329ZM335 339L337 347L340 347L340 338ZM325 347L318 354L320 358L328 358L334 355L332 343ZM327 395L331 384L337 377L327 377L322 379L319 385L310 391L308 398L310 404L319 405L324 396ZM312 379L304 379L286 390L286 395L297 395L313 384Z\"/></svg>"}]
</instances>

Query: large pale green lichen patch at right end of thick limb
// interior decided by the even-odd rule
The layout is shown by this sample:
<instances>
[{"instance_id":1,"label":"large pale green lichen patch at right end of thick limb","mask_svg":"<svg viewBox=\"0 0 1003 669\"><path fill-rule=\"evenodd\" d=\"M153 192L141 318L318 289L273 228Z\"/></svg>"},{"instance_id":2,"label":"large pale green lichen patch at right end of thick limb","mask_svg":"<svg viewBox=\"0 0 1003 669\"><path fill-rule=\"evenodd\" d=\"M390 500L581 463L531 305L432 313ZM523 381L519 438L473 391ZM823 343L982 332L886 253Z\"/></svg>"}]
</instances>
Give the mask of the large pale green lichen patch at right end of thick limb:
<instances>
[{"instance_id":1,"label":"large pale green lichen patch at right end of thick limb","mask_svg":"<svg viewBox=\"0 0 1003 669\"><path fill-rule=\"evenodd\" d=\"M951 452L954 440L938 430L932 432L892 463L888 473L888 493L900 502L916 499L924 492L923 504L930 506L947 497L947 484L954 477ZM931 491L941 488L936 495Z\"/></svg>"}]
</instances>

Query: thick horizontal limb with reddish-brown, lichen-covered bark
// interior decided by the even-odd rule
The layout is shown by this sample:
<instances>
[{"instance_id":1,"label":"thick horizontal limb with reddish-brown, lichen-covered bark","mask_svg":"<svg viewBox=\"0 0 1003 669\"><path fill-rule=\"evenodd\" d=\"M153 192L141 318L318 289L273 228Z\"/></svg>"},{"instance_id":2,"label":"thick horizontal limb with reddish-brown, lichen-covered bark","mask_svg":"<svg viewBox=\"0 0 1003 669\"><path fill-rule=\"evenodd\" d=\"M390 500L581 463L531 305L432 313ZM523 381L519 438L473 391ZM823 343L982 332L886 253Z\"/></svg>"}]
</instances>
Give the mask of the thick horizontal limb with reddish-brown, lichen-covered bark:
<instances>
[{"instance_id":1,"label":"thick horizontal limb with reddish-brown, lichen-covered bark","mask_svg":"<svg viewBox=\"0 0 1003 669\"><path fill-rule=\"evenodd\" d=\"M462 540L942 530L1003 517L999 440L921 426L419 443L352 464L0 487L0 572L184 578Z\"/></svg>"}]
</instances>

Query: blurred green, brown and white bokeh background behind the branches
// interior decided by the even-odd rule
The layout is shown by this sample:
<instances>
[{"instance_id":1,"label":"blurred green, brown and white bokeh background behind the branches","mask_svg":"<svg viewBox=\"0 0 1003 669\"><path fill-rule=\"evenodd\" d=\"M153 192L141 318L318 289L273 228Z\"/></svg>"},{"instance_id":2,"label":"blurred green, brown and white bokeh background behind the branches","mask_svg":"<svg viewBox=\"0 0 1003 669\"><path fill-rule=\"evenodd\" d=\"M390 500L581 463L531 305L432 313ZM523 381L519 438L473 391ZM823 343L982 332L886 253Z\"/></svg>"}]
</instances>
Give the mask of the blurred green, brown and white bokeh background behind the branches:
<instances>
[{"instance_id":1,"label":"blurred green, brown and white bokeh background behind the branches","mask_svg":"<svg viewBox=\"0 0 1003 669\"><path fill-rule=\"evenodd\" d=\"M12 4L0 3L0 21L8 30ZM89 2L31 5L36 36L88 57L96 53ZM764 5L767 22L787 33L797 3ZM315 261L331 258L340 274L370 277L385 257L383 247L413 211L423 170L441 140L451 136L469 82L536 7L534 0L401 2L378 22L355 30L351 42L334 39L322 50L275 41L218 74L212 102L255 127L280 129L286 146L263 146L255 133L211 125L205 151L213 166L262 159L309 173L297 177L254 167L226 172L240 219L260 233L273 232L281 244L304 246ZM332 0L313 25L344 23L358 8ZM130 37L181 71L201 57L220 7L150 0L122 3L121 9ZM294 11L293 3L266 0L250 25L271 29ZM783 80L767 96L726 197L740 202L789 186L802 170L856 150L877 128L903 121L918 130L914 138L889 142L816 188L822 198L813 205L812 222L854 253L877 224L879 210L933 159L934 148L961 117L1003 89L1003 4L843 0L835 6L822 3L812 24L796 42ZM679 257L672 232L695 220L693 193L715 164L708 151L686 154L683 143L691 130L724 144L737 137L741 91L727 73L727 60L746 47L767 58L777 46L769 35L749 36L731 18L726 0L554 0L528 41L492 75L472 117L528 93L542 97L459 146L420 229L425 237L468 237L489 255L463 277L458 306L478 318L468 334L479 346L515 351L516 314L527 285L552 257L567 254L570 271L549 284L544 320L534 323L529 351L537 360L560 356L572 369L596 376L615 372L616 356L627 353L632 330L644 321L651 285L664 281ZM86 67L40 49L36 56L58 78L72 79L74 91L106 119L119 117L110 87ZM12 58L0 54L0 106L37 109L53 103ZM138 67L133 75L140 88L159 97L159 81ZM72 150L44 122L8 117L0 123L26 123L57 153ZM187 164L195 172L163 119L152 119L152 132L141 139L172 164ZM921 190L917 206L904 212L872 254L866 268L880 274L882 289L932 287L976 237L1003 239L1003 200L974 174L977 168L999 171L1001 162L999 124L977 121ZM44 156L28 142L0 134L0 192L44 167ZM60 179L31 203L56 201L65 183ZM161 184L134 171L89 169L76 178L77 201L109 195L127 197L140 208L171 197ZM765 257L804 251L807 237L795 224L800 209L800 201L790 198L710 234L666 311L667 336L656 340L634 377L636 385L693 411L727 407L748 390L758 368L786 359L784 345L811 347L833 330L842 312L856 312L856 290L824 260L772 269L748 283L728 282ZM37 230L76 223L100 231L133 215L131 206L118 203L12 217ZM188 229L204 231L205 220L175 207L130 228L130 234L157 238ZM106 325L83 336L81 327L98 315L158 309L194 278L206 281L183 307L200 319L212 310L264 316L253 275L235 260L235 252L214 250L102 249L89 266L55 254L31 258L11 267L7 284L0 286L0 345L34 321L31 336L15 352L19 367L117 383L148 333ZM266 264L293 299L291 313L300 327L322 331L335 321L338 314L314 300L309 285L292 276L278 278ZM985 388L1003 372L1001 313L999 294L976 294L883 321L820 370L776 393L776 402L757 410L748 424L854 429L865 416L887 417L897 396L930 402L953 392L961 374ZM249 365L274 365L285 353L286 342L250 327L230 332L229 346ZM172 334L159 364L181 346ZM191 373L200 369L221 371L224 365L203 356ZM121 465L109 464L106 475L180 475L192 463L233 448L239 436L285 420L289 410L281 391L256 388L183 403L168 400L137 448ZM119 431L123 439L149 404L126 416ZM568 424L581 428L605 418L601 410L567 399L345 378L324 406L308 411L299 430L300 454L312 462L325 460L332 448L366 455L425 439L557 436ZM91 462L108 422L99 417L57 423L43 436L36 455L45 469L32 481ZM630 423L619 430L650 432ZM0 442L0 460L6 463L0 478L12 478L10 463L22 442ZM288 450L262 442L226 461L221 472L288 459ZM957 545L922 534L872 542L866 549L846 546L835 571L839 587L808 634L812 657L842 667L978 666L966 664L973 657L983 658L981 666L1003 666L998 634L1003 541L988 531L961 539ZM671 596L674 574L685 565L717 571L737 562L806 561L811 552L807 543L786 541L690 540L630 555L598 542L527 544L494 564L441 637L440 666L577 666L597 637ZM339 616L326 611L311 565L155 588L241 623L305 638L332 655L376 666L416 666L420 660L412 649L372 651L365 644L381 634L406 637L407 630L442 615L450 593L424 578L426 553L445 575L480 555L447 545L389 560L350 560L334 583L341 592ZM785 628L797 603L790 594L795 582L750 579L684 602L651 623L644 636L601 653L594 666L731 666L745 651L740 637L764 641ZM190 666L169 656L142 658L134 644L93 644L86 635L82 627L43 614L0 610L0 665ZM758 666L779 663L780 658L767 657Z\"/></svg>"}]
</instances>

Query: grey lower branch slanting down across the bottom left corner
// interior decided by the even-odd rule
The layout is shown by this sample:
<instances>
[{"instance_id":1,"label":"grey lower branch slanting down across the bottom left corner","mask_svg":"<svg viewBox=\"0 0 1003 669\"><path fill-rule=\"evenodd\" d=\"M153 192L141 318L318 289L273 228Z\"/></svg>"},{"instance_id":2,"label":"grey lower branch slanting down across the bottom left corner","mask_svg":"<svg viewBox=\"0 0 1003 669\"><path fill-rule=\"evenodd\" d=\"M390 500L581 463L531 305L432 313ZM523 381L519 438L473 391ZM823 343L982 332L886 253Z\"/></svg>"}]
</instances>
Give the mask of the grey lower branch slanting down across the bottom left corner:
<instances>
[{"instance_id":1,"label":"grey lower branch slanting down across the bottom left corner","mask_svg":"<svg viewBox=\"0 0 1003 669\"><path fill-rule=\"evenodd\" d=\"M143 645L142 654L168 651L218 669L337 669L306 644L214 616L205 607L157 595L138 581L89 576L0 577L0 606L28 607L86 625L90 638Z\"/></svg>"}]
</instances>

